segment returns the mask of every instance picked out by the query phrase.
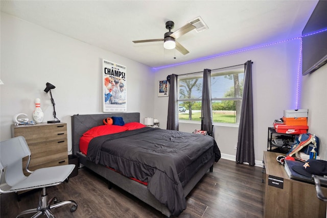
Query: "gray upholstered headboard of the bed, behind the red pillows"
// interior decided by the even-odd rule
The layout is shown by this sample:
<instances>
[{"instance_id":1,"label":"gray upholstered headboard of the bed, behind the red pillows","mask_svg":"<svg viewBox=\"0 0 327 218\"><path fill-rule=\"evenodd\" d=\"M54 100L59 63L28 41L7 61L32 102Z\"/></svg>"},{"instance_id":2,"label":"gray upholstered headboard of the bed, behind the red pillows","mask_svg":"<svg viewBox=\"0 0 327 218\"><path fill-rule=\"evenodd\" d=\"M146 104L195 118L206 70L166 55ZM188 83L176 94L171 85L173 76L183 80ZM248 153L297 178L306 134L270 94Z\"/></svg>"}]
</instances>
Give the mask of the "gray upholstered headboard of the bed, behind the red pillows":
<instances>
[{"instance_id":1,"label":"gray upholstered headboard of the bed, behind the red pillows","mask_svg":"<svg viewBox=\"0 0 327 218\"><path fill-rule=\"evenodd\" d=\"M102 113L76 114L72 116L72 146L73 154L79 152L80 138L84 132L92 127L103 125L103 119L111 116L121 116L125 123L139 122L139 113Z\"/></svg>"}]
</instances>

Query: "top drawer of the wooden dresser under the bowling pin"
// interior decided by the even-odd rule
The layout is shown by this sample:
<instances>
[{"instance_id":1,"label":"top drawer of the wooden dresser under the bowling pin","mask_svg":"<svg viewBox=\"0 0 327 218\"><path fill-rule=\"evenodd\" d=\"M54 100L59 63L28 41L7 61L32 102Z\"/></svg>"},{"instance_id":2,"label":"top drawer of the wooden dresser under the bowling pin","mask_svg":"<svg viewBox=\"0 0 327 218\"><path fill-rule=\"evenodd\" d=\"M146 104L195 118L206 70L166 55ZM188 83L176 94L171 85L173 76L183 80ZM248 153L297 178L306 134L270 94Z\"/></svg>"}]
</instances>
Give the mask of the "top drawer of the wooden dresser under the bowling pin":
<instances>
[{"instance_id":1,"label":"top drawer of the wooden dresser under the bowling pin","mask_svg":"<svg viewBox=\"0 0 327 218\"><path fill-rule=\"evenodd\" d=\"M22 135L25 137L26 142L29 144L38 143L42 141L51 141L62 138L67 138L67 125L66 124L53 124L35 126L19 126L14 127L13 137Z\"/></svg>"}]
</instances>

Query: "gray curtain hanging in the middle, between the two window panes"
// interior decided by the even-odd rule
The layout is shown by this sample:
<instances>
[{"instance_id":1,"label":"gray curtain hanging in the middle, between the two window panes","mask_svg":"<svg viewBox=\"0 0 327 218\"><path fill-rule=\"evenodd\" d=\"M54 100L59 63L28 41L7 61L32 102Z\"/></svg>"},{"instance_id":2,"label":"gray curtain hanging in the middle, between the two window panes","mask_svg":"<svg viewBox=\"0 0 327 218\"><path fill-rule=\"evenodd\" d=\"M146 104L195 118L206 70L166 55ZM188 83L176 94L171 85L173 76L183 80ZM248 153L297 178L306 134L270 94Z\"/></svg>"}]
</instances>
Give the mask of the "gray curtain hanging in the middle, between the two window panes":
<instances>
[{"instance_id":1,"label":"gray curtain hanging in the middle, between the two window panes","mask_svg":"<svg viewBox=\"0 0 327 218\"><path fill-rule=\"evenodd\" d=\"M203 70L201 130L206 130L208 135L213 131L213 107L211 102L211 69Z\"/></svg>"}]
</instances>

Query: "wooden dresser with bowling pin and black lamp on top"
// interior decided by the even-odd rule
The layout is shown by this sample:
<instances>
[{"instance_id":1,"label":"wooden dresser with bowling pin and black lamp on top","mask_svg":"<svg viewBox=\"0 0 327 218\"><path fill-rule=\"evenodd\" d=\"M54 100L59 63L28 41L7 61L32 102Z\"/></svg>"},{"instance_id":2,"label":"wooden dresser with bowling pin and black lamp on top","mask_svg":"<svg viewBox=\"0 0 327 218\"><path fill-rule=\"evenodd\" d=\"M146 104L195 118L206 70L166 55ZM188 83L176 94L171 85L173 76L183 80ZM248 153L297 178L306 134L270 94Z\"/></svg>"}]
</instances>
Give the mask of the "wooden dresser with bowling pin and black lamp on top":
<instances>
[{"instance_id":1,"label":"wooden dresser with bowling pin and black lamp on top","mask_svg":"<svg viewBox=\"0 0 327 218\"><path fill-rule=\"evenodd\" d=\"M12 137L24 136L30 151L29 169L68 164L67 124L41 123L31 126L11 126ZM24 173L28 158L23 159Z\"/></svg>"}]
</instances>

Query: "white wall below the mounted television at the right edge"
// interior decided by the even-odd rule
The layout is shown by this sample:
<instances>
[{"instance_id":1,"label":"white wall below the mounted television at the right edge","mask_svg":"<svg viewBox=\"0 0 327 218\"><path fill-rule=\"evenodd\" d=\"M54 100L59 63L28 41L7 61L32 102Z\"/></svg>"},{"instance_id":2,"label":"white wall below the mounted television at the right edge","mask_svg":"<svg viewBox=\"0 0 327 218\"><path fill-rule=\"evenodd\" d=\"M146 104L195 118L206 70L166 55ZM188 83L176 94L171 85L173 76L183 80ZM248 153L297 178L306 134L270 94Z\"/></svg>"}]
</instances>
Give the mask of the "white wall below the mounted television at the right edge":
<instances>
[{"instance_id":1,"label":"white wall below the mounted television at the right edge","mask_svg":"<svg viewBox=\"0 0 327 218\"><path fill-rule=\"evenodd\" d=\"M319 156L327 160L327 64L303 76L302 83L302 105L309 109L309 132L319 137Z\"/></svg>"}]
</instances>

